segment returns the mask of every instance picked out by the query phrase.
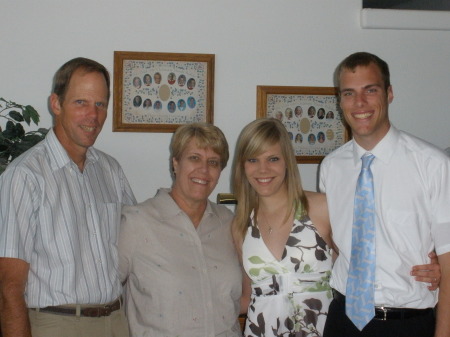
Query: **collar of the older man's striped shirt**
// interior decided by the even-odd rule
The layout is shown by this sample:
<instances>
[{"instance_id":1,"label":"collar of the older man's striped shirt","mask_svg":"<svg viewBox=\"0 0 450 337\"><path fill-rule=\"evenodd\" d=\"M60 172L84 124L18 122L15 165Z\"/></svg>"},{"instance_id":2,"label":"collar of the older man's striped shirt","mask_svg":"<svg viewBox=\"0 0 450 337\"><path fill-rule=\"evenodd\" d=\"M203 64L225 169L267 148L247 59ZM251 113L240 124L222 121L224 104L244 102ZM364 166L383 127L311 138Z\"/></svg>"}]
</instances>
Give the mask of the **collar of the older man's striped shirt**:
<instances>
[{"instance_id":1,"label":"collar of the older man's striped shirt","mask_svg":"<svg viewBox=\"0 0 450 337\"><path fill-rule=\"evenodd\" d=\"M48 148L48 153L50 154L50 165L53 170L61 169L69 164L75 165L72 159L70 159L69 155L67 154L66 149L62 146L60 141L58 140L58 137L56 137L55 131L53 128L50 129L50 131L47 133L47 136L45 137L46 146ZM97 151L90 147L87 150L86 153L86 165L87 166L90 162L95 162L99 159Z\"/></svg>"}]
</instances>

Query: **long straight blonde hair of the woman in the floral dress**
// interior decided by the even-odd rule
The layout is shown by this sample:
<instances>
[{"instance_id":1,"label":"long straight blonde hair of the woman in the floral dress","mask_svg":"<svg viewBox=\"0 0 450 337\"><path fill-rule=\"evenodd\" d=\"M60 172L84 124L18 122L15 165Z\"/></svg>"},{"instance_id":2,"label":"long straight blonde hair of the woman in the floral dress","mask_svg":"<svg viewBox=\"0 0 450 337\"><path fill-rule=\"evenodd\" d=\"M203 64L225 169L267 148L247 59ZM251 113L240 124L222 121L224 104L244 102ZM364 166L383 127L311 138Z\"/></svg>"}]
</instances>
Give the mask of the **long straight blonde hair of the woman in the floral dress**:
<instances>
[{"instance_id":1,"label":"long straight blonde hair of the woman in the floral dress","mask_svg":"<svg viewBox=\"0 0 450 337\"><path fill-rule=\"evenodd\" d=\"M294 149L284 125L275 118L261 118L248 124L239 135L232 167L232 190L237 200L236 217L233 222L233 235L242 242L247 233L250 214L258 213L258 194L245 175L245 162L263 153L267 147L279 143L286 162L285 183L288 191L288 204L296 210L303 205L308 211L308 201L301 185L300 174L295 160ZM288 217L292 208L288 208Z\"/></svg>"}]
</instances>

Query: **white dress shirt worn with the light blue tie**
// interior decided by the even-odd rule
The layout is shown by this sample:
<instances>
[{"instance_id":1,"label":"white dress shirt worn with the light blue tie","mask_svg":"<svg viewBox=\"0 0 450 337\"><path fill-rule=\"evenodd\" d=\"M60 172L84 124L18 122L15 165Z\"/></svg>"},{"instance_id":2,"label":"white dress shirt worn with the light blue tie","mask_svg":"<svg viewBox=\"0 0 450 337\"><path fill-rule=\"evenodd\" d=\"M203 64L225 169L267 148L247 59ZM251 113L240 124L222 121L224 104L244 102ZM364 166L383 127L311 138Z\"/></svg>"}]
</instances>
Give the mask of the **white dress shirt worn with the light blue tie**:
<instances>
[{"instance_id":1,"label":"white dress shirt worn with the light blue tie","mask_svg":"<svg viewBox=\"0 0 450 337\"><path fill-rule=\"evenodd\" d=\"M353 202L366 151L354 140L323 161L320 189L327 194L333 239L339 248L331 286L345 294L351 256ZM450 158L435 146L391 126L370 151L376 210L377 306L434 307L437 292L410 276L428 253L450 251Z\"/></svg>"}]
</instances>

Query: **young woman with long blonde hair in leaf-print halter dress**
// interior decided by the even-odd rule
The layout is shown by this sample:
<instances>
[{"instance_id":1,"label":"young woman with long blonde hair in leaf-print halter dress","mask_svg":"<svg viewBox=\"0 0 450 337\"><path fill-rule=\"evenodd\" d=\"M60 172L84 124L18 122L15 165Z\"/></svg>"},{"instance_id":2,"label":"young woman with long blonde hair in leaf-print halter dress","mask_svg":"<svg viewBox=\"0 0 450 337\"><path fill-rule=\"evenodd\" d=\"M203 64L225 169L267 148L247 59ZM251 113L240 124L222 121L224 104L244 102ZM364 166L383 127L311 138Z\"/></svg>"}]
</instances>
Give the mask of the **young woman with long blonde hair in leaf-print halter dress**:
<instances>
[{"instance_id":1,"label":"young woman with long blonde hair in leaf-print halter dress","mask_svg":"<svg viewBox=\"0 0 450 337\"><path fill-rule=\"evenodd\" d=\"M332 299L327 202L324 194L303 191L279 120L257 119L242 130L232 177L238 201L232 231L245 269L244 335L322 336ZM437 265L414 268L418 281L440 277Z\"/></svg>"}]
</instances>

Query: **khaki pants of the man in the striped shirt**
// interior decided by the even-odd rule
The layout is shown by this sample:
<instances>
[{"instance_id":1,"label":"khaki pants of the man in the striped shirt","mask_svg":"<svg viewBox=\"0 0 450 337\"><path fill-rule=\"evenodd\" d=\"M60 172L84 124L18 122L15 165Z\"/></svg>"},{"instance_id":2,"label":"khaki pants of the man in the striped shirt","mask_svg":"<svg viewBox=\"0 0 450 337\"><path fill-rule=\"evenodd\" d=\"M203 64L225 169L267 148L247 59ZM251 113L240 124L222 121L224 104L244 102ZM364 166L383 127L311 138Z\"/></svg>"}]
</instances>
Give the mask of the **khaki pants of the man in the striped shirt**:
<instances>
[{"instance_id":1,"label":"khaki pants of the man in the striped shirt","mask_svg":"<svg viewBox=\"0 0 450 337\"><path fill-rule=\"evenodd\" d=\"M123 307L105 317L77 317L28 310L33 337L129 337Z\"/></svg>"}]
</instances>

